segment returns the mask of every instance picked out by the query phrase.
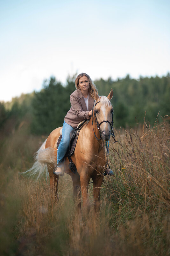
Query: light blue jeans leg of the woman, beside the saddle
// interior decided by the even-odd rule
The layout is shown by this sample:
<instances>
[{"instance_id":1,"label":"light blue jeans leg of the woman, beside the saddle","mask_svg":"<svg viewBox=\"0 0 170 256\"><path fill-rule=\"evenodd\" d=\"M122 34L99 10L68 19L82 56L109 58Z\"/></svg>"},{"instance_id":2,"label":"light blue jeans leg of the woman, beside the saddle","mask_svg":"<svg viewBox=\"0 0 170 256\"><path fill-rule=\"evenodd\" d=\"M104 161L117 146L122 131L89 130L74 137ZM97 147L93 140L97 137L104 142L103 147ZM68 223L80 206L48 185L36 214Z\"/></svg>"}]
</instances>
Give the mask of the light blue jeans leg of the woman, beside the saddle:
<instances>
[{"instance_id":1,"label":"light blue jeans leg of the woman, beside the saddle","mask_svg":"<svg viewBox=\"0 0 170 256\"><path fill-rule=\"evenodd\" d=\"M74 128L67 124L65 121L63 123L63 129L62 129L62 138L60 141L60 145L58 147L57 151L57 164L58 167L62 167L62 160L67 152L67 149L69 147L70 142L70 132L74 130Z\"/></svg>"}]
</instances>

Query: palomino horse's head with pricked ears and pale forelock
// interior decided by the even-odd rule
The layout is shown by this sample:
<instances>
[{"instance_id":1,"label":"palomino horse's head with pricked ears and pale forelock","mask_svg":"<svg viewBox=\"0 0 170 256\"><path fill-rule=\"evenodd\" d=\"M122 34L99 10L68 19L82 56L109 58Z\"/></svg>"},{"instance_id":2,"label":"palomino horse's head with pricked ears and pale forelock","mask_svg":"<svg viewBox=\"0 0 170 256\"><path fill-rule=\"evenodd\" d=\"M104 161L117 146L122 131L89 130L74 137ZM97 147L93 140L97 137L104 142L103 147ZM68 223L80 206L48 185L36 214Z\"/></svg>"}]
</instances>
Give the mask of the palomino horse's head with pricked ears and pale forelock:
<instances>
[{"instance_id":1,"label":"palomino horse's head with pricked ears and pale forelock","mask_svg":"<svg viewBox=\"0 0 170 256\"><path fill-rule=\"evenodd\" d=\"M113 129L113 107L111 105L111 98L113 97L113 90L111 89L110 94L106 96L98 96L94 90L95 106L94 116L96 124L100 130L102 139L109 140L110 134Z\"/></svg>"}]
</instances>

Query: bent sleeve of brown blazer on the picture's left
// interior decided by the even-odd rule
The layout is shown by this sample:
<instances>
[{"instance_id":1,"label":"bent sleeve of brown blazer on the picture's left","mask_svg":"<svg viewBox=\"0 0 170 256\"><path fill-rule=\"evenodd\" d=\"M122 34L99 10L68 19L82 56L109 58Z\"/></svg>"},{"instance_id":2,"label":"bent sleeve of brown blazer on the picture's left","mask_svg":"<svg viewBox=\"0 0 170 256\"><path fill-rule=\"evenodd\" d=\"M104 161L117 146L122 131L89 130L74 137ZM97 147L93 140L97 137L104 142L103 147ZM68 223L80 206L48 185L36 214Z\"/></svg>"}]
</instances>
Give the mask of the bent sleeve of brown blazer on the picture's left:
<instances>
[{"instance_id":1,"label":"bent sleeve of brown blazer on the picture's left","mask_svg":"<svg viewBox=\"0 0 170 256\"><path fill-rule=\"evenodd\" d=\"M80 102L78 101L78 99L76 97L74 97L73 95L70 95L70 103L72 108L75 111L76 116L81 117L82 120L84 119L90 119L89 117L89 110L88 111L84 111L81 107Z\"/></svg>"}]
</instances>

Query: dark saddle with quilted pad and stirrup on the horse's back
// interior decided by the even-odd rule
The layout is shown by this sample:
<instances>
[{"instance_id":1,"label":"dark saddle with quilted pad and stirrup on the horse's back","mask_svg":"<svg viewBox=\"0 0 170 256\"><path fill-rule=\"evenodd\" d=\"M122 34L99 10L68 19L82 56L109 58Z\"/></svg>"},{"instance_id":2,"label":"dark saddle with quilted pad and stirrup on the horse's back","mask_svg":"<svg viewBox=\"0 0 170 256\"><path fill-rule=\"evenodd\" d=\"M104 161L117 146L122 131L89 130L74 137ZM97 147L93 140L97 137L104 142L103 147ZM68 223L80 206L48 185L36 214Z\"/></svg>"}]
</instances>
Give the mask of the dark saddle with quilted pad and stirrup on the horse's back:
<instances>
[{"instance_id":1,"label":"dark saddle with quilted pad and stirrup on the horse's back","mask_svg":"<svg viewBox=\"0 0 170 256\"><path fill-rule=\"evenodd\" d=\"M87 121L84 120L83 122L81 122L77 128L75 128L74 130L72 130L70 132L70 142L69 142L69 147L68 147L68 150L67 150L67 153L66 153L66 157L68 158L69 160L69 169L74 172L75 174L79 175L78 172L77 172L77 169L76 169L76 166L74 164L74 162L72 161L71 159L71 155L74 153L74 150L75 150L75 146L77 144L77 139L78 139L78 136L79 136L79 132L81 130L81 128L83 127L83 125L85 124L85 122ZM61 138L62 138L62 134L60 135L60 137L58 138L58 141L57 141L57 150L58 150L58 147L60 145L60 141L61 141Z\"/></svg>"}]
</instances>

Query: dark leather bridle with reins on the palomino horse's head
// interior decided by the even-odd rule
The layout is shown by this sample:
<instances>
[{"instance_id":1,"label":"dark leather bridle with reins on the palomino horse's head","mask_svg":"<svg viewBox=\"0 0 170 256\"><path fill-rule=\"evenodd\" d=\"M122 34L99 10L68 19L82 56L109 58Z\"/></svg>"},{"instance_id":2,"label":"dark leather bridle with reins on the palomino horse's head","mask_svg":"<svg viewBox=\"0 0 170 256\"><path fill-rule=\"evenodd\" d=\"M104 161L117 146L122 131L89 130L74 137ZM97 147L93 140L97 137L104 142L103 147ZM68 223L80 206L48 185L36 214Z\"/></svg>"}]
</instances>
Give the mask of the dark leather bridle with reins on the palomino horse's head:
<instances>
[{"instance_id":1,"label":"dark leather bridle with reins on the palomino horse's head","mask_svg":"<svg viewBox=\"0 0 170 256\"><path fill-rule=\"evenodd\" d=\"M96 107L97 103L99 103L99 102L100 102L100 101L96 102L96 104L94 103L93 108L92 108L92 114L91 114L92 126L93 126L93 109L94 109L94 107ZM103 120L103 121L101 121L101 122L99 123L99 122L97 121L96 111L95 111L95 110L94 110L94 116L95 116L95 122L96 122L97 128L98 128L99 133L100 133L100 139L98 139L98 138L96 137L96 134L95 134L95 131L94 131L94 127L93 127L93 132L94 132L94 134L95 134L96 139L97 139L97 140L101 140L102 132L100 131L100 125L101 125L102 123L104 123L104 122L107 122L107 123L110 124L111 136L112 136L112 138L114 139L114 142L113 142L113 143L117 142L116 139L115 139L115 134L114 134L114 132L113 132L113 113L112 113L112 121L111 121L111 122L110 122L109 120Z\"/></svg>"}]
</instances>

